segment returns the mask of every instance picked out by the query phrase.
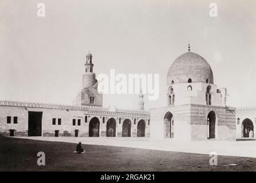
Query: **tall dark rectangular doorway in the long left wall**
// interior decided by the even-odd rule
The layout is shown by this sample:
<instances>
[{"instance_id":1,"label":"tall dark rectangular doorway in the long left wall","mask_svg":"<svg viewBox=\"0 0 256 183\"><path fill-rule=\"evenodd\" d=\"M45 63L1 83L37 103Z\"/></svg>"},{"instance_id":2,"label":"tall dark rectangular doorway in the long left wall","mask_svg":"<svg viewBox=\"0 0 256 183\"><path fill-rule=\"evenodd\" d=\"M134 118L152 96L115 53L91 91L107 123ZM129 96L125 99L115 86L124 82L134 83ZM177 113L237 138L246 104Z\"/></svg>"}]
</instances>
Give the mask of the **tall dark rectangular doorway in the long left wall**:
<instances>
[{"instance_id":1,"label":"tall dark rectangular doorway in the long left wall","mask_svg":"<svg viewBox=\"0 0 256 183\"><path fill-rule=\"evenodd\" d=\"M28 136L42 136L42 112L29 112Z\"/></svg>"}]
</instances>

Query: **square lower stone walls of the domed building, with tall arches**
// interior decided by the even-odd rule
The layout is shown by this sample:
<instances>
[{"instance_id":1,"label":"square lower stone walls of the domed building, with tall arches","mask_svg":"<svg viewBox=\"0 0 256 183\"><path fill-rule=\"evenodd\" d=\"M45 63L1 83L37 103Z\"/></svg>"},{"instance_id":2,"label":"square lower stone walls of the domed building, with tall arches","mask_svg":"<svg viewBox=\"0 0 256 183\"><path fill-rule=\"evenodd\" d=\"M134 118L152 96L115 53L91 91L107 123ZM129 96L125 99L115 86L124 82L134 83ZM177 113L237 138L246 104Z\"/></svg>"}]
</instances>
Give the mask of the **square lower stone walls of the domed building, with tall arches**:
<instances>
[{"instance_id":1,"label":"square lower stone walls of the domed building, with tall arches","mask_svg":"<svg viewBox=\"0 0 256 183\"><path fill-rule=\"evenodd\" d=\"M173 114L174 141L206 141L208 137L207 116L214 110L216 114L215 140L235 140L235 109L209 105L180 105L152 109L152 140L164 140L164 116Z\"/></svg>"}]
</instances>

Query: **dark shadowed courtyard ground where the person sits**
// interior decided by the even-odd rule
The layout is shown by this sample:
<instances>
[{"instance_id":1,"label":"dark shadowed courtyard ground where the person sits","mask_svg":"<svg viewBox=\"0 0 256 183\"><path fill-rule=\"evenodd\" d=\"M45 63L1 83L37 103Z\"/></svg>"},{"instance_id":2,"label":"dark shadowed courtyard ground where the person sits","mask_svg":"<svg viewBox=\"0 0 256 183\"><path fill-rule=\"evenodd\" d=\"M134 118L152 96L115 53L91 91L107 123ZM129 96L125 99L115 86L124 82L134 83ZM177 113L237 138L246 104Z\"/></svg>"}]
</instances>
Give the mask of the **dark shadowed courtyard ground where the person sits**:
<instances>
[{"instance_id":1,"label":"dark shadowed courtyard ground where the person sits","mask_svg":"<svg viewBox=\"0 0 256 183\"><path fill-rule=\"evenodd\" d=\"M61 138L57 138L61 140ZM46 138L51 140L51 138ZM54 138L52 139L54 140ZM67 138L65 141L87 140ZM98 140L100 140L98 138ZM96 144L94 141L91 143ZM118 143L121 143L116 139ZM104 141L102 139L102 141ZM108 144L113 144L108 141ZM123 145L133 144L125 140ZM137 145L148 144L145 139ZM169 143L169 142L165 142ZM106 144L106 143L105 143ZM155 144L155 148L159 146ZM218 156L218 166L211 166L208 154L181 153L164 150L126 148L121 146L88 145L84 154L73 153L76 144L0 138L0 171L255 171L256 159L249 157ZM45 153L45 166L37 165L37 153ZM235 164L236 166L228 166Z\"/></svg>"}]
</instances>

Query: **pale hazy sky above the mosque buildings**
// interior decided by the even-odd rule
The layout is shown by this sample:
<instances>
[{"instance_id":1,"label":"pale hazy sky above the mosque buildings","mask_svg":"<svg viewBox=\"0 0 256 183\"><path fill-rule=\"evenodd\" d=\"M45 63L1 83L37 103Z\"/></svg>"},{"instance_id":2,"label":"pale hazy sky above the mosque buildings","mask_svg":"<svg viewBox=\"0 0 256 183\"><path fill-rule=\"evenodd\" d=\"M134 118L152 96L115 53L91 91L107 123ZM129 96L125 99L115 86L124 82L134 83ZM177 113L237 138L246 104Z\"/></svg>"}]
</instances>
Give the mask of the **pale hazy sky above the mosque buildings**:
<instances>
[{"instance_id":1,"label":"pale hazy sky above the mosque buildings","mask_svg":"<svg viewBox=\"0 0 256 183\"><path fill-rule=\"evenodd\" d=\"M145 108L166 106L166 74L188 43L227 87L227 105L256 106L254 0L1 0L0 100L72 104L90 51L96 74L160 74L160 98ZM138 96L104 94L103 105L137 109Z\"/></svg>"}]
</instances>

